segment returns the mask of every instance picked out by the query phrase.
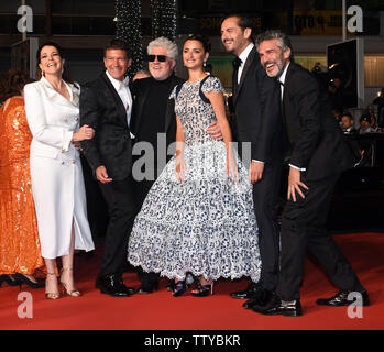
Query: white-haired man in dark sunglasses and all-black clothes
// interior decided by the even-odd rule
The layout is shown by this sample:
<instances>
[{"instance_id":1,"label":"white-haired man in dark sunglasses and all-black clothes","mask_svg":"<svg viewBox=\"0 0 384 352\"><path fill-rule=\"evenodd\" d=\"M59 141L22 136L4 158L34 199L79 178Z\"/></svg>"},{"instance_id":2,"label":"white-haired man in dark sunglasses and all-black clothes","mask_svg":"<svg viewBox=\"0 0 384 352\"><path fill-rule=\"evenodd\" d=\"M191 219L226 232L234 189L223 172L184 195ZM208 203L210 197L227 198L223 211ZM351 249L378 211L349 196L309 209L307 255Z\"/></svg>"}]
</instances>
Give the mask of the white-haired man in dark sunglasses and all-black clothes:
<instances>
[{"instance_id":1,"label":"white-haired man in dark sunglasses and all-black clothes","mask_svg":"<svg viewBox=\"0 0 384 352\"><path fill-rule=\"evenodd\" d=\"M175 100L168 98L174 87L185 81L174 73L177 55L177 45L168 38L161 36L153 40L147 46L149 70L152 77L136 79L132 85L134 105L130 127L135 136L134 143L147 142L154 151L153 163L143 163L144 173L142 167L139 170L133 164L138 211L140 211L153 183L163 170L165 162L172 157L168 147L176 141ZM220 129L216 123L212 123L207 133L216 139L221 139ZM140 150L141 145L136 145L134 150ZM140 155L133 155L133 162L145 158L146 150L140 152ZM158 164L157 160L162 160L162 156L165 156L165 158L163 157L164 163ZM147 157L146 162L150 160ZM139 162L136 165L141 165L141 163ZM144 179L138 178L142 175L145 175ZM149 294L158 288L158 274L145 273L141 268L139 268L138 274L141 280L139 294Z\"/></svg>"}]
</instances>

